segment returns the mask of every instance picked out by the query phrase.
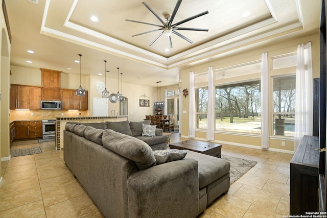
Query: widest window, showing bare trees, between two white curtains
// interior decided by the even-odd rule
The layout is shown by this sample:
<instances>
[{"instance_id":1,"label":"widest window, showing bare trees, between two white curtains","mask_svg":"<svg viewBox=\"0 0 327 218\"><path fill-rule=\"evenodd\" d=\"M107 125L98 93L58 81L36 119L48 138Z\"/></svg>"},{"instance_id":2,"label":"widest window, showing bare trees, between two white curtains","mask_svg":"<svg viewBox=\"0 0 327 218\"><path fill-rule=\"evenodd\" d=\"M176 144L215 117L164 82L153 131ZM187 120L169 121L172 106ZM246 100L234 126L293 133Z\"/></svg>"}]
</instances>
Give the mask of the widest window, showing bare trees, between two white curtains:
<instances>
[{"instance_id":1,"label":"widest window, showing bare trees, between two white curtains","mask_svg":"<svg viewBox=\"0 0 327 218\"><path fill-rule=\"evenodd\" d=\"M216 130L261 134L260 81L216 87Z\"/></svg>"}]
</instances>

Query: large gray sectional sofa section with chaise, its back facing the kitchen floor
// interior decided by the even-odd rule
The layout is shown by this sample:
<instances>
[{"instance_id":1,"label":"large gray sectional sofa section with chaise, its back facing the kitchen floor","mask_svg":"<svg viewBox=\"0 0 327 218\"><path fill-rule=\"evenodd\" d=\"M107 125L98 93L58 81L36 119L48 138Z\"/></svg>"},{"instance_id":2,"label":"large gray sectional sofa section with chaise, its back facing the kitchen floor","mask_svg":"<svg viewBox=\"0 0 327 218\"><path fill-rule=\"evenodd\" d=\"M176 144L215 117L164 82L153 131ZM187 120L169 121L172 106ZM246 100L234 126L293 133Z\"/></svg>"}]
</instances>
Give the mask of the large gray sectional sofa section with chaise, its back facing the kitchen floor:
<instances>
[{"instance_id":1,"label":"large gray sectional sofa section with chaise, its back facing the kitchen floor","mask_svg":"<svg viewBox=\"0 0 327 218\"><path fill-rule=\"evenodd\" d=\"M196 217L229 189L223 159L183 150L159 163L158 151L136 137L74 123L65 129L64 161L105 217Z\"/></svg>"}]
</instances>

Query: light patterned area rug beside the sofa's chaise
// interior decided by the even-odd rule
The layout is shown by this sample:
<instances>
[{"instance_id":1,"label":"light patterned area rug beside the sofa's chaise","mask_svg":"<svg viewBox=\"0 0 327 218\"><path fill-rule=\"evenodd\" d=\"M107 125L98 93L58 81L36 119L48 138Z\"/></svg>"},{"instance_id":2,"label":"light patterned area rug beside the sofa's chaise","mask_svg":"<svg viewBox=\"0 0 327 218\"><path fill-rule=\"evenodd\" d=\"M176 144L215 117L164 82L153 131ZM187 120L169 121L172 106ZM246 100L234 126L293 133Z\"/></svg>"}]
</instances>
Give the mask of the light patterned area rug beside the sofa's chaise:
<instances>
[{"instance_id":1,"label":"light patterned area rug beside the sofa's chaise","mask_svg":"<svg viewBox=\"0 0 327 218\"><path fill-rule=\"evenodd\" d=\"M228 160L230 162L230 184L241 178L246 172L249 171L250 168L255 166L256 161L253 160L245 160L237 157L230 157L226 155L221 155L221 159Z\"/></svg>"}]
</instances>

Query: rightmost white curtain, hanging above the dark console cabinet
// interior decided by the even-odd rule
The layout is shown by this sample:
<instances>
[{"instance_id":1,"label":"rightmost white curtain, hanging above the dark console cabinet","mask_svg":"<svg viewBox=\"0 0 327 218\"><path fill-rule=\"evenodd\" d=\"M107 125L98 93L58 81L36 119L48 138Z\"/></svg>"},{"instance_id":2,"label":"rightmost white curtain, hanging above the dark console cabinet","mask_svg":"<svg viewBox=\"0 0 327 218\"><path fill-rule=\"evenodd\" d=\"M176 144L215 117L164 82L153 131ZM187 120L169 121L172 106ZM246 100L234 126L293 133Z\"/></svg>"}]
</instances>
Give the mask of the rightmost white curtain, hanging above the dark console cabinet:
<instances>
[{"instance_id":1,"label":"rightmost white curtain, hanging above the dark console cabinet","mask_svg":"<svg viewBox=\"0 0 327 218\"><path fill-rule=\"evenodd\" d=\"M311 42L297 46L294 151L304 135L312 135L313 78Z\"/></svg>"}]
</instances>

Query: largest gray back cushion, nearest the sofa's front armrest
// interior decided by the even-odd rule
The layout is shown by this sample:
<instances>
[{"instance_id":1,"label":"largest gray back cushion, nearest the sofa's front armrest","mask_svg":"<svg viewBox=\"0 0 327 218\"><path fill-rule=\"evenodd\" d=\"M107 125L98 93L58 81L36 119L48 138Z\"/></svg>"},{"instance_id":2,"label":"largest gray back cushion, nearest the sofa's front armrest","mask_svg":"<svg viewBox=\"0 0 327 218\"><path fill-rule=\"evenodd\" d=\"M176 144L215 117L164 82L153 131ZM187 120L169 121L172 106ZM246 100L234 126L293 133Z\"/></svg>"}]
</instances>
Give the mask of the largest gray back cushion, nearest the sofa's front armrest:
<instances>
[{"instance_id":1,"label":"largest gray back cushion, nearest the sofa's front armrest","mask_svg":"<svg viewBox=\"0 0 327 218\"><path fill-rule=\"evenodd\" d=\"M154 158L150 146L137 138L106 129L102 135L105 148L135 162L139 170L154 166Z\"/></svg>"}]
</instances>

